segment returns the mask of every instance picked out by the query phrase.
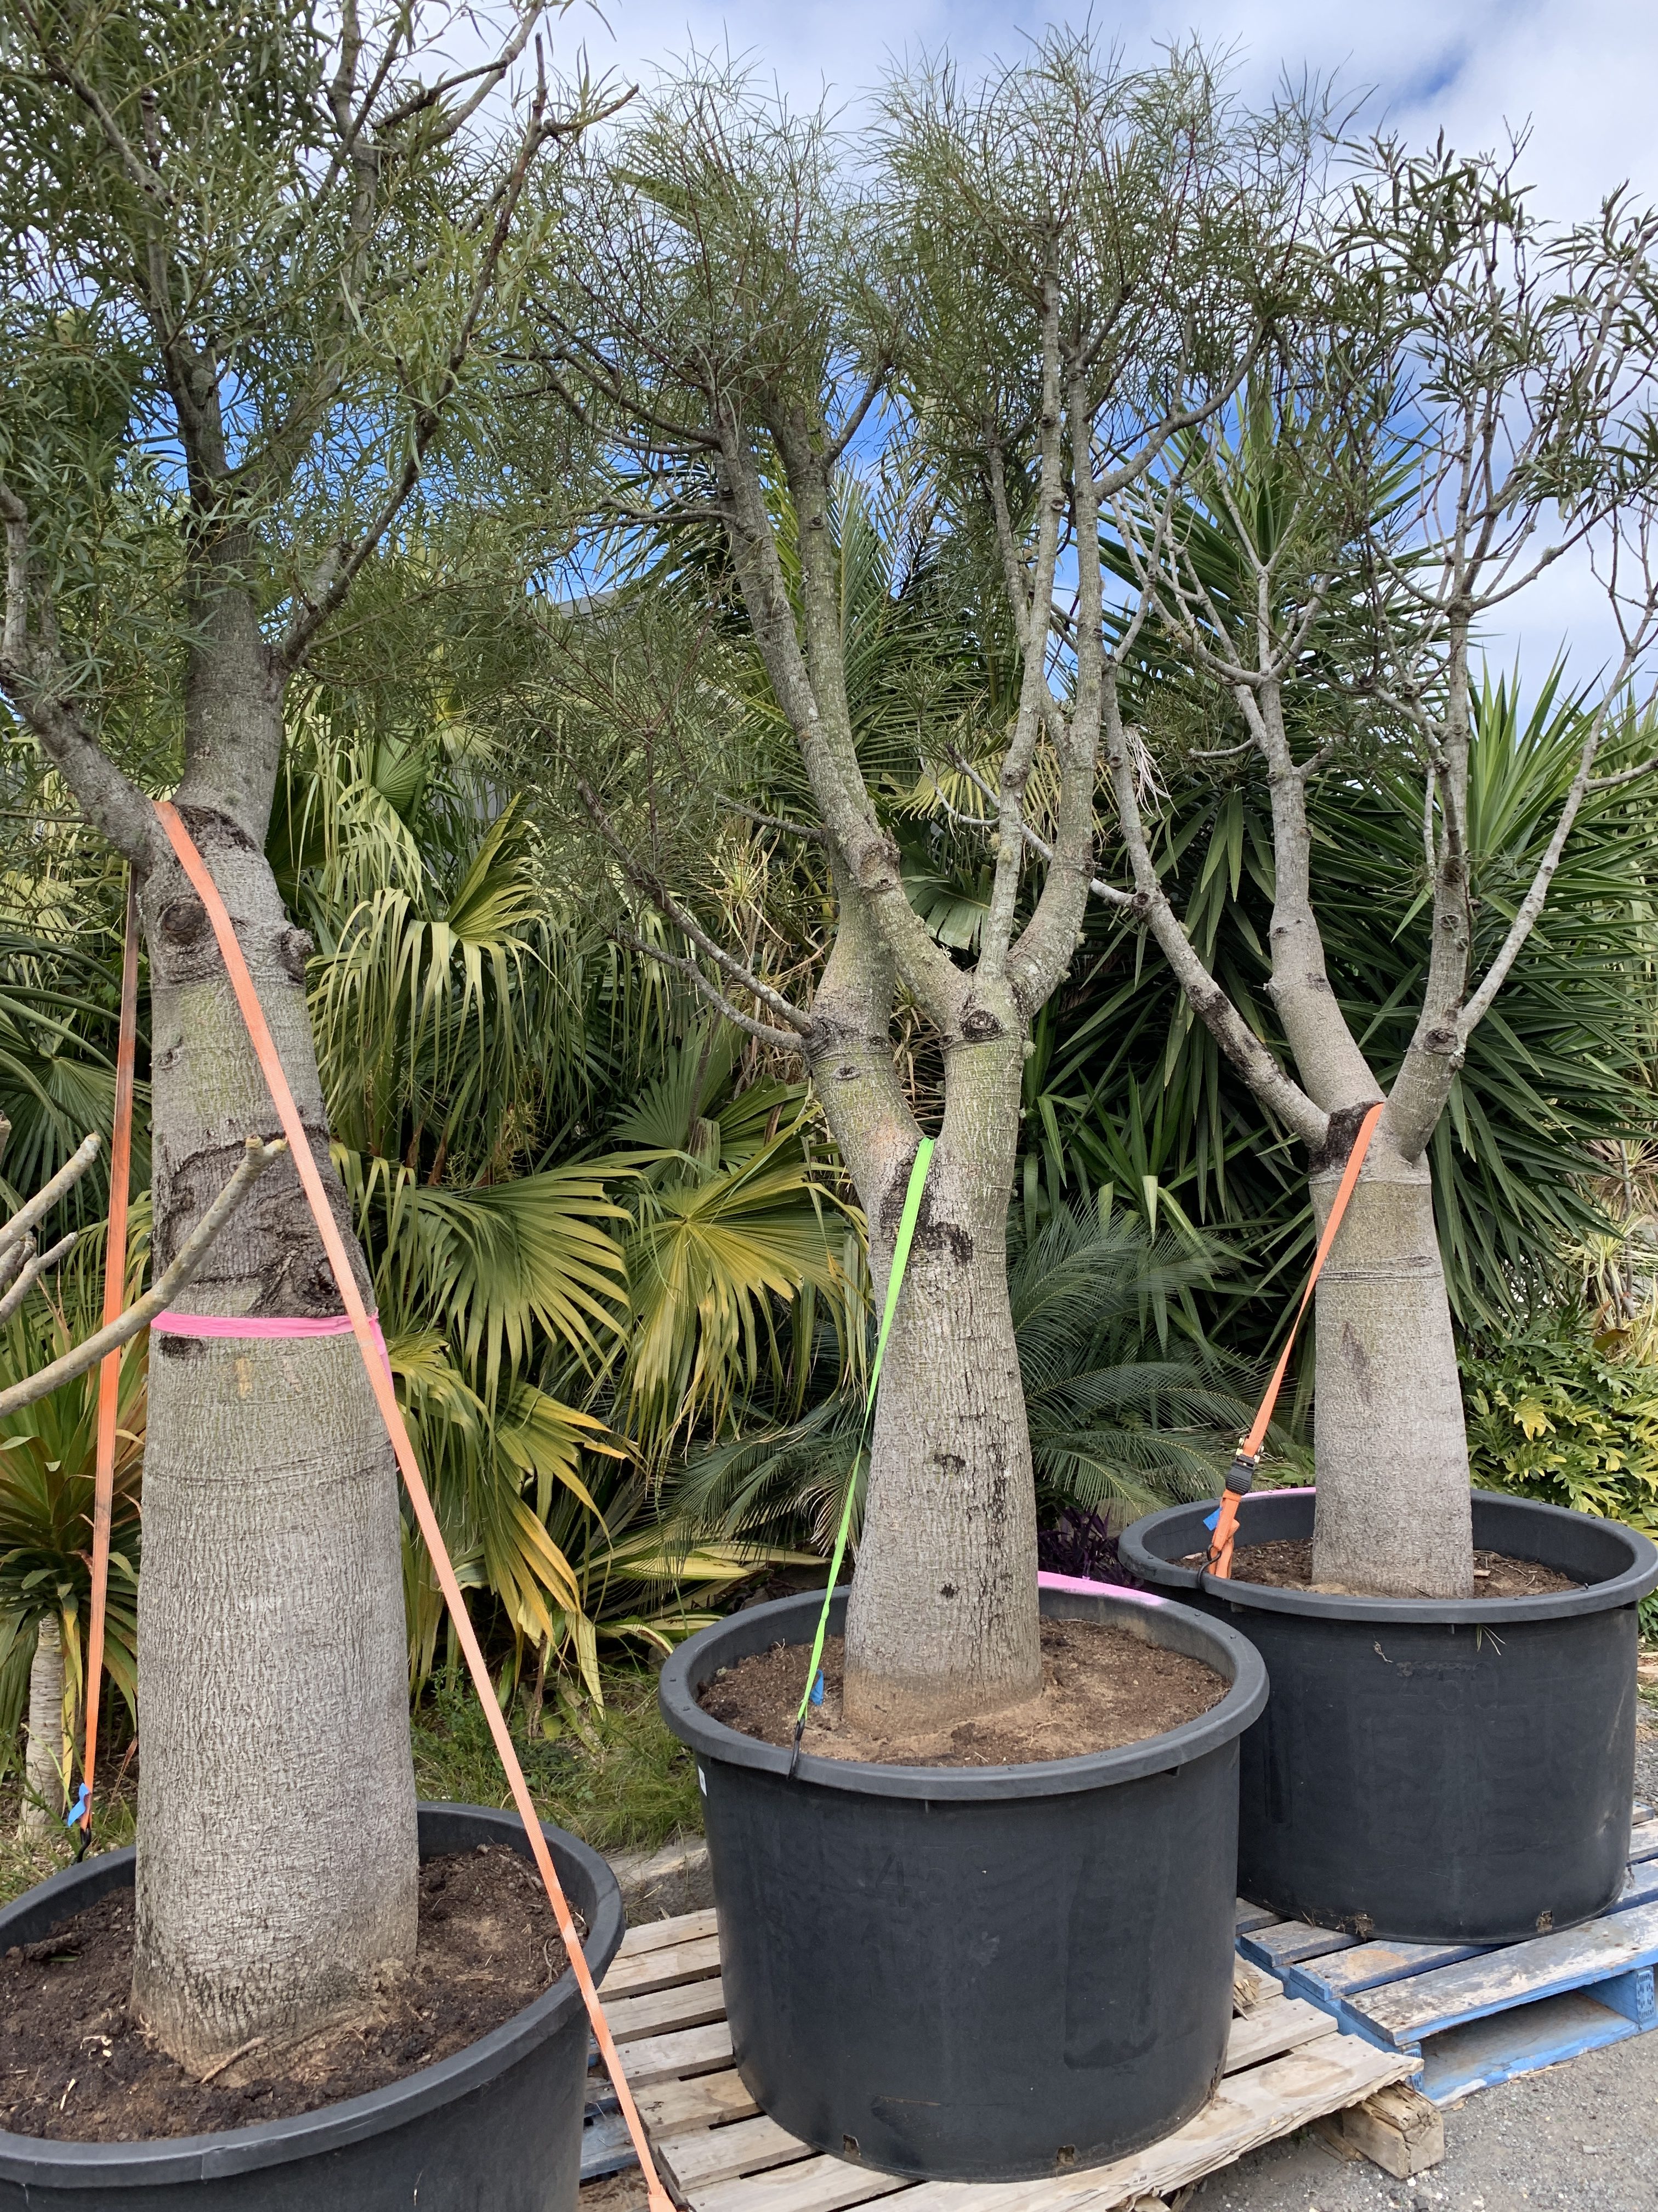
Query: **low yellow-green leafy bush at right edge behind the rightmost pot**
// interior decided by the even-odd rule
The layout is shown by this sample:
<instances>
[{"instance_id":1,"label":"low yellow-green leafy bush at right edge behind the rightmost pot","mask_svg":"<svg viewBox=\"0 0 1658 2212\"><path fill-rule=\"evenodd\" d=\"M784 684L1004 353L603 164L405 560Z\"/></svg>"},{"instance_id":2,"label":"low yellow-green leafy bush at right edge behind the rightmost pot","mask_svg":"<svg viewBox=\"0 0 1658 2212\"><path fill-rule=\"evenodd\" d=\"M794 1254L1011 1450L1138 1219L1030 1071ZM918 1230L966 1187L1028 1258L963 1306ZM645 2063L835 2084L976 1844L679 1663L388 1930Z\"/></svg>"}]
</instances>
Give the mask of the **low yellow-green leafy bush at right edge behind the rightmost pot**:
<instances>
[{"instance_id":1,"label":"low yellow-green leafy bush at right edge behind the rightmost pot","mask_svg":"<svg viewBox=\"0 0 1658 2212\"><path fill-rule=\"evenodd\" d=\"M1565 1332L1463 1354L1468 1460L1479 1489L1541 1498L1658 1535L1658 1367ZM1640 1608L1658 1635L1658 1601Z\"/></svg>"}]
</instances>

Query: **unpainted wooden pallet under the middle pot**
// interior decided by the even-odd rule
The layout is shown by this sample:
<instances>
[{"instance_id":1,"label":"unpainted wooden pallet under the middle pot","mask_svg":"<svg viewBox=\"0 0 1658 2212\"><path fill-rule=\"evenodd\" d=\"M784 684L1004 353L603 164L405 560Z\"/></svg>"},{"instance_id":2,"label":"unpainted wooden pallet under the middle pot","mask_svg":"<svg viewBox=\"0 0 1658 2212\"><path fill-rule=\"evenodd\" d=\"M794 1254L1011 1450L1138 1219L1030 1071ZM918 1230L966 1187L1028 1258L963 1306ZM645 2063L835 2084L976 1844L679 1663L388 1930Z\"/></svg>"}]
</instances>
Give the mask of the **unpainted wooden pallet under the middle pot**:
<instances>
[{"instance_id":1,"label":"unpainted wooden pallet under the middle pot","mask_svg":"<svg viewBox=\"0 0 1658 2212\"><path fill-rule=\"evenodd\" d=\"M902 2212L1110 2212L1185 2188L1258 2143L1406 2081L1417 2066L1340 2033L1326 2011L1240 1960L1225 2079L1185 2128L1063 2179L902 2181L820 2157L756 2108L732 2064L712 1911L630 1929L604 1980L604 2006L663 2179L690 2212L842 2212L878 2197L902 2199Z\"/></svg>"}]
</instances>

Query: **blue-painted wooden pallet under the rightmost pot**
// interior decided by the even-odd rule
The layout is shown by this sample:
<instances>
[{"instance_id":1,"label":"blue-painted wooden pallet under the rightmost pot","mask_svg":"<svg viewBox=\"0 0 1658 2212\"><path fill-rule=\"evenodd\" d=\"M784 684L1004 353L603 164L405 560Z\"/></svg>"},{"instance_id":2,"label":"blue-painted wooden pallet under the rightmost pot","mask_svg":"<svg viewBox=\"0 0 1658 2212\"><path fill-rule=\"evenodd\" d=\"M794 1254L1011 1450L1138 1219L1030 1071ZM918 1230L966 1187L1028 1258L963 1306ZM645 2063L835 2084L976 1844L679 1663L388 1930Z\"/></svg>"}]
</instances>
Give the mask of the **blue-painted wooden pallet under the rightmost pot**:
<instances>
[{"instance_id":1,"label":"blue-painted wooden pallet under the rightmost pot","mask_svg":"<svg viewBox=\"0 0 1658 2212\"><path fill-rule=\"evenodd\" d=\"M1636 1816L1623 1893L1585 1927L1497 1947L1357 1942L1242 1911L1238 1949L1349 2033L1419 2057L1421 2095L1452 2104L1658 2026L1658 1816Z\"/></svg>"}]
</instances>

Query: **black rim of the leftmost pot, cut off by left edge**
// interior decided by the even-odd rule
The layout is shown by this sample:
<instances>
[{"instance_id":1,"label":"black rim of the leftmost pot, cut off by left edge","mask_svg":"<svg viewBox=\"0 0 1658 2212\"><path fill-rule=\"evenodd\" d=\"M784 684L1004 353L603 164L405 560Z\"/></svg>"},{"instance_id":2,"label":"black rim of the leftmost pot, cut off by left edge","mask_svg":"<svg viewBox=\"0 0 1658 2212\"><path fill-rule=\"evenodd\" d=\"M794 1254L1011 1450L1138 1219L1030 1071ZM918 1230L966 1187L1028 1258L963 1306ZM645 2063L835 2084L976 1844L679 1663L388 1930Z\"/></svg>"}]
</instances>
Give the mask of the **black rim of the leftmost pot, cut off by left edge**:
<instances>
[{"instance_id":1,"label":"black rim of the leftmost pot, cut off by left edge","mask_svg":"<svg viewBox=\"0 0 1658 2212\"><path fill-rule=\"evenodd\" d=\"M466 1814L471 1823L489 1834L480 1843L524 1838L524 1823L515 1812L500 1812L491 1805L451 1805L442 1801L420 1801L422 1814ZM595 1982L604 1975L626 1931L621 1889L606 1860L590 1845L570 1836L568 1829L542 1823L542 1834L557 1856L577 1860L588 1874L597 1911L584 1953L592 1964ZM7 1922L24 1907L40 1907L46 1891L60 1891L66 1920L84 1909L73 1902L77 1889L88 1878L104 1876L99 1893L124 1887L119 1876L133 1867L137 1851L99 1851L95 1858L66 1867L27 1889L11 1905L0 1907L0 1951L7 1949ZM115 1880L111 1880L115 1876ZM88 1900L95 1902L95 1900ZM287 2166L298 2159L314 2159L365 2137L387 2132L422 2112L436 2110L466 2097L471 2090L493 2081L537 2044L548 2042L573 2013L581 2011L581 1991L570 1966L522 2013L513 2013L500 2028L480 2035L464 2051L453 2051L436 2066L422 2066L400 2081L363 2090L358 2097L343 2097L338 2104L318 2106L314 2112L294 2112L290 2119L261 2119L252 2128L219 2128L212 2135L166 2135L150 2141L122 2143L75 2143L38 2135L11 2135L0 2128L0 2179L24 2188L144 2188L179 2181L214 2181L230 2174L245 2174L267 2166Z\"/></svg>"}]
</instances>

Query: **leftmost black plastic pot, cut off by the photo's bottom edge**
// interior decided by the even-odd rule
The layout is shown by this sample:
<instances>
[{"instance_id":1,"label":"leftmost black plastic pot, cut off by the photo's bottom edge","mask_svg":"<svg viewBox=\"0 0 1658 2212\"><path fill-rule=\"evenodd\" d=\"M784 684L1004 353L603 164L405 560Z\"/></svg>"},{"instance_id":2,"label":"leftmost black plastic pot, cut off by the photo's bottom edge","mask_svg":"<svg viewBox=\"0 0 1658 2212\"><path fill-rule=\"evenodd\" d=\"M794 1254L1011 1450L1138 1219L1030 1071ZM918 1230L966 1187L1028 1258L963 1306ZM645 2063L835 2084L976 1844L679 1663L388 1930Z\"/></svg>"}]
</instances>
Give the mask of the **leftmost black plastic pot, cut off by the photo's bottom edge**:
<instances>
[{"instance_id":1,"label":"leftmost black plastic pot, cut off by the photo's bottom edge","mask_svg":"<svg viewBox=\"0 0 1658 2212\"><path fill-rule=\"evenodd\" d=\"M623 1933L615 1876L559 1827L542 1834L588 1924L595 1975ZM517 1814L422 1805L420 1856L508 1843ZM106 1851L0 1911L0 1951L38 1942L133 1880ZM73 2022L64 2022L73 2033ZM29 2212L575 2212L588 2022L575 1975L466 2051L345 2104L157 2143L44 2143L0 2132L0 2205Z\"/></svg>"}]
</instances>

